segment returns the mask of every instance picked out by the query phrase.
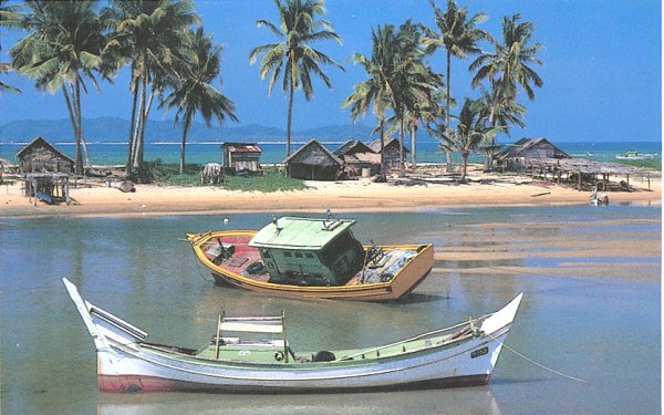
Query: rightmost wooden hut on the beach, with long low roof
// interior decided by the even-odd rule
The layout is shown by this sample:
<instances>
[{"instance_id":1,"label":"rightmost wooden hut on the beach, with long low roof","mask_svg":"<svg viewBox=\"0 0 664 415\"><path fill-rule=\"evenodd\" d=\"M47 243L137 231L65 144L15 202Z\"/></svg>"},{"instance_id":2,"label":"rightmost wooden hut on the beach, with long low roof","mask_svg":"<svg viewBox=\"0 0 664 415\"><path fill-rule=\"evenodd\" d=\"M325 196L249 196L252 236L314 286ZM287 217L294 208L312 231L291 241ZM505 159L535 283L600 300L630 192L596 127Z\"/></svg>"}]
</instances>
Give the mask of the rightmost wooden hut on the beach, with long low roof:
<instances>
[{"instance_id":1,"label":"rightmost wooden hut on the beach, with long low roof","mask_svg":"<svg viewBox=\"0 0 664 415\"><path fill-rule=\"evenodd\" d=\"M494 156L494 162L502 169L520 170L531 159L571 158L567 153L551 144L547 138L521 138Z\"/></svg>"}]
</instances>

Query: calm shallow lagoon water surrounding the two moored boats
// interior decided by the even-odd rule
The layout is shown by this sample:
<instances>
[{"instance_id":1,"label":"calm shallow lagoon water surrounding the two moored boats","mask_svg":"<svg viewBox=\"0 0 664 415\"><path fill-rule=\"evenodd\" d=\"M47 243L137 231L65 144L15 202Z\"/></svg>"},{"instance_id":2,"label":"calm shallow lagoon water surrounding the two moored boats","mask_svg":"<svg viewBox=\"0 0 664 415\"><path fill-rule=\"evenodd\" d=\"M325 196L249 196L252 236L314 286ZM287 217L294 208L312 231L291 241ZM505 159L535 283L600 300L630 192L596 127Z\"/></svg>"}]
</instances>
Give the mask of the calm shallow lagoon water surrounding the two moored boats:
<instances>
[{"instance_id":1,"label":"calm shallow lagoon water surrounding the two moored boats","mask_svg":"<svg viewBox=\"0 0 664 415\"><path fill-rule=\"evenodd\" d=\"M342 216L342 215L340 215ZM257 229L268 214L0 220L2 414L624 414L661 408L661 207L347 214L378 243L433 241L405 301L266 297L215 287L185 231ZM222 218L229 224L224 225ZM61 278L151 333L198 346L217 313L287 312L293 349L387 343L525 300L488 386L359 394L113 394Z\"/></svg>"}]
</instances>

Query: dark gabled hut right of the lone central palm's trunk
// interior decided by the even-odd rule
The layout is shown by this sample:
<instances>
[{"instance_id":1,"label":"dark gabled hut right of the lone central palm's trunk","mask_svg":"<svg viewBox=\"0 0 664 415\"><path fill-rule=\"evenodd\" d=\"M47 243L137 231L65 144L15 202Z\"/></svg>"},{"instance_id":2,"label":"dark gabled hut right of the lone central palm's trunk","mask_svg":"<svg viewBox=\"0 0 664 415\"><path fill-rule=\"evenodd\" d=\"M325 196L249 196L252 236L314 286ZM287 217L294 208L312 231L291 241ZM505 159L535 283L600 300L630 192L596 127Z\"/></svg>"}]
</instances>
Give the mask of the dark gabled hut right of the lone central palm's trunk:
<instances>
[{"instance_id":1,"label":"dark gabled hut right of the lone central palm's trunk","mask_svg":"<svg viewBox=\"0 0 664 415\"><path fill-rule=\"evenodd\" d=\"M288 175L307 180L336 180L343 160L324 145L311 139L283 160Z\"/></svg>"}]
</instances>

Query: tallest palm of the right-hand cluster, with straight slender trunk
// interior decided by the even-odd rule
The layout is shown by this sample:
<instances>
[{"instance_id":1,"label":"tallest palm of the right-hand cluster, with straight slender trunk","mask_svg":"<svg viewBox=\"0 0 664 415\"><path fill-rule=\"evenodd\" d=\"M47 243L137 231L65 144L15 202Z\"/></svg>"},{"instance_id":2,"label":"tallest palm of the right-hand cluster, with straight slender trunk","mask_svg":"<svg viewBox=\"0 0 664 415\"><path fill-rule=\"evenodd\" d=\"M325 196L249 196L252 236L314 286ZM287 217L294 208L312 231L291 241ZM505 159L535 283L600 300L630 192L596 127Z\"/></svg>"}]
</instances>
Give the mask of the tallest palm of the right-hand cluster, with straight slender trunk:
<instances>
[{"instance_id":1,"label":"tallest palm of the right-hand cluster, with straight slender trunk","mask_svg":"<svg viewBox=\"0 0 664 415\"><path fill-rule=\"evenodd\" d=\"M480 12L468 18L468 10L465 7L458 8L455 0L447 0L447 9L445 11L442 11L434 0L429 0L429 3L434 9L434 18L438 32L428 31L424 43L432 48L443 46L446 52L447 97L445 107L447 116L445 125L449 128L449 100L452 97L449 93L449 85L452 84L449 77L450 59L452 56L466 59L468 54L479 53L480 50L477 43L483 39L490 40L491 37L486 31L477 28L477 24L487 19L486 13ZM449 152L446 152L446 162L449 169Z\"/></svg>"}]
</instances>

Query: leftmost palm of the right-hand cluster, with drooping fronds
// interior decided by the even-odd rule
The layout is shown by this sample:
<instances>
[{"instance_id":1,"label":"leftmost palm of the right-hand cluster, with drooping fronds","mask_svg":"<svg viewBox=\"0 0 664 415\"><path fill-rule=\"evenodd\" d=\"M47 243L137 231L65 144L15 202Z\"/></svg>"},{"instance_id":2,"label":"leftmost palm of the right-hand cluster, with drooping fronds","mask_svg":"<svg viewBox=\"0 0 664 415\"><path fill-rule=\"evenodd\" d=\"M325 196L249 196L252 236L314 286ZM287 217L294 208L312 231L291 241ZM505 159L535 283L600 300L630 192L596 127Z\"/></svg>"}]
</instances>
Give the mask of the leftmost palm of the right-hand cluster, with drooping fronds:
<instances>
[{"instance_id":1,"label":"leftmost palm of the right-hand cluster, with drooping fronds","mask_svg":"<svg viewBox=\"0 0 664 415\"><path fill-rule=\"evenodd\" d=\"M341 104L342 108L351 107L351 118L353 122L360 115L364 116L372 107L373 114L377 118L377 128L381 137L381 175L385 173L385 113L393 102L394 95L392 82L392 72L397 51L397 32L392 24L377 27L371 31L372 52L371 58L361 53L354 53L350 60L353 63L362 65L366 73L366 80L356 83L353 92L345 97Z\"/></svg>"}]
</instances>

